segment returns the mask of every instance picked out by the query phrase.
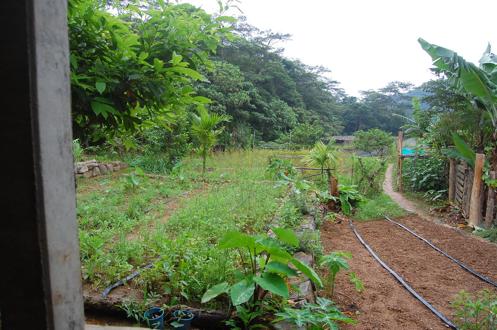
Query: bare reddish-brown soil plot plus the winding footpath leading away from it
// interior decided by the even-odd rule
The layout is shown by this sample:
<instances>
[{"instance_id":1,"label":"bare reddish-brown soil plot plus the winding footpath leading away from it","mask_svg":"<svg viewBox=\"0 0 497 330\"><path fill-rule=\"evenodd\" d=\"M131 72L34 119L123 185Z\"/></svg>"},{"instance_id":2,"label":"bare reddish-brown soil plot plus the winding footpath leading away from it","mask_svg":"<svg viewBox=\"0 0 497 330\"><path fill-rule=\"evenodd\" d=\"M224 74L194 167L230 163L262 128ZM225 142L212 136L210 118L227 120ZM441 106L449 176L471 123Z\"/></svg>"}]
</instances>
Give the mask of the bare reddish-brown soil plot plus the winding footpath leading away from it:
<instances>
[{"instance_id":1,"label":"bare reddish-brown soil plot plus the winding footpath leading away from it","mask_svg":"<svg viewBox=\"0 0 497 330\"><path fill-rule=\"evenodd\" d=\"M391 178L392 168L389 167L385 191L392 193L392 198L406 209L419 211L401 194L393 192ZM392 220L428 239L481 275L497 281L497 247L494 244L465 236L453 228L440 226L417 215ZM477 293L493 288L386 219L354 222L354 226L385 264L451 321L455 318L456 309L450 306L450 302L460 290ZM344 329L447 328L440 318L415 299L370 255L352 232L348 221L324 223L322 235L326 254L343 251L352 255L350 268L366 286L366 291L359 293L345 276L338 279L338 292L333 300L360 322L343 324Z\"/></svg>"}]
</instances>

